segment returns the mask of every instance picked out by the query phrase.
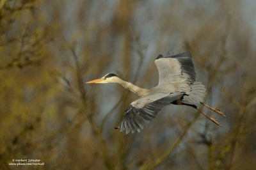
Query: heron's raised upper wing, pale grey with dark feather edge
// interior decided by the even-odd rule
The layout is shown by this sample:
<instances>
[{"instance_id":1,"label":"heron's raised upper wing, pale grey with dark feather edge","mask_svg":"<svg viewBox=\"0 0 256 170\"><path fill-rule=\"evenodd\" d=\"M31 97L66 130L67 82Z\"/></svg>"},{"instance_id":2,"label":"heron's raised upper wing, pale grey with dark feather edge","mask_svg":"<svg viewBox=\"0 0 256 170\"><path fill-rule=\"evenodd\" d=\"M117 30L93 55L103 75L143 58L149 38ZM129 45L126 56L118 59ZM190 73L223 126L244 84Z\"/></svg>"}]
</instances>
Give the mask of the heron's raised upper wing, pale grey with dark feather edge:
<instances>
[{"instance_id":1,"label":"heron's raised upper wing, pale grey with dark feather edge","mask_svg":"<svg viewBox=\"0 0 256 170\"><path fill-rule=\"evenodd\" d=\"M195 68L191 55L186 52L175 56L159 55L155 61L159 72L159 84L187 81L193 83L196 79Z\"/></svg>"}]
</instances>

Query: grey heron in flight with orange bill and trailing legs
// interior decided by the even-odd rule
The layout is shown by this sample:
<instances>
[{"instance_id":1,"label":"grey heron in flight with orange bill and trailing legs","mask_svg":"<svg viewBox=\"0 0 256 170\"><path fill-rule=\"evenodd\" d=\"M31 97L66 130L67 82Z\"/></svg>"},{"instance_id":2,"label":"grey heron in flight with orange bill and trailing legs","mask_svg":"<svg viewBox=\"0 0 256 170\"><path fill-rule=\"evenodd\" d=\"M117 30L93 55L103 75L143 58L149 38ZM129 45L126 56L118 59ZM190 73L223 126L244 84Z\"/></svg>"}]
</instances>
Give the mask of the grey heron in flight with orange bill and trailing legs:
<instances>
[{"instance_id":1,"label":"grey heron in flight with orange bill and trailing legs","mask_svg":"<svg viewBox=\"0 0 256 170\"><path fill-rule=\"evenodd\" d=\"M124 130L126 134L140 132L145 122L153 120L164 106L170 104L193 107L216 123L216 125L220 125L215 118L198 109L199 105L204 105L212 111L225 116L220 110L204 103L205 87L201 82L195 81L196 73L191 54L186 52L166 57L160 54L157 56L155 64L159 72L159 82L156 87L151 89L140 88L131 82L124 81L115 73L108 73L100 79L86 82L115 82L140 96L125 110L125 116L118 126L120 132Z\"/></svg>"}]
</instances>

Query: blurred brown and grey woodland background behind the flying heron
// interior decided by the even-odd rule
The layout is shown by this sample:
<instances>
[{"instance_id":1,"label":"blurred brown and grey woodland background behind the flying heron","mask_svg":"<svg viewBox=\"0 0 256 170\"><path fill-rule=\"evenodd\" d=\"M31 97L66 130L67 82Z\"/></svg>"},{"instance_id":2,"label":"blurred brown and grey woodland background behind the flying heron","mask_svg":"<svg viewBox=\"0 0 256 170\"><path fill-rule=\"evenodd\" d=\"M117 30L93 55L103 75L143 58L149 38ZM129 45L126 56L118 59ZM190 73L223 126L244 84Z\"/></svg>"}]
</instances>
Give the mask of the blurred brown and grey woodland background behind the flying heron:
<instances>
[{"instance_id":1,"label":"blurred brown and grey woodland background behind the flying heron","mask_svg":"<svg viewBox=\"0 0 256 170\"><path fill-rule=\"evenodd\" d=\"M255 169L256 1L0 1L0 169ZM164 107L140 134L115 130L157 85L159 54L191 52L217 127ZM13 158L44 166L9 166Z\"/></svg>"}]
</instances>

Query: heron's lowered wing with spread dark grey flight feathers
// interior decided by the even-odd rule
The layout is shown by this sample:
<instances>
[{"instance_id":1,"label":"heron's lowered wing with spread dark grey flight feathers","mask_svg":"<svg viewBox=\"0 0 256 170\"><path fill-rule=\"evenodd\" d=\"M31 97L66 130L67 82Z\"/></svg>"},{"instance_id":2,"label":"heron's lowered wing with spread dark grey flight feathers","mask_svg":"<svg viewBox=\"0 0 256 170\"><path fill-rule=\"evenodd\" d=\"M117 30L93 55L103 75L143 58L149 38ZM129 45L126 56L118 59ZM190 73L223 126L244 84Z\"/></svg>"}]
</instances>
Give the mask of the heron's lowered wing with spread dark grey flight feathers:
<instances>
[{"instance_id":1,"label":"heron's lowered wing with spread dark grey flight feathers","mask_svg":"<svg viewBox=\"0 0 256 170\"><path fill-rule=\"evenodd\" d=\"M166 96L164 93L152 93L135 100L125 110L125 116L118 127L120 132L124 130L126 134L129 134L129 132L133 134L136 130L140 132L145 121L153 120L165 105L179 99L182 95L172 93Z\"/></svg>"}]
</instances>

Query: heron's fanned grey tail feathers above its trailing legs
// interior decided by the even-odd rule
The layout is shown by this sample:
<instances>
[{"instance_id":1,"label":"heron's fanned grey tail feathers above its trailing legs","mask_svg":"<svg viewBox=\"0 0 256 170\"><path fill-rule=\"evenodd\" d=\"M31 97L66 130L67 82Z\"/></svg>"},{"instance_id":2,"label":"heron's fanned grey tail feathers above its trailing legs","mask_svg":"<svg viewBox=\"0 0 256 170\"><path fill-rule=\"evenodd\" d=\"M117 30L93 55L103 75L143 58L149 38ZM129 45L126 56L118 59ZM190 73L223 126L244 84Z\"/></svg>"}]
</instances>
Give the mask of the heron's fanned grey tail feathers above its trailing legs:
<instances>
[{"instance_id":1,"label":"heron's fanned grey tail feathers above its trailing legs","mask_svg":"<svg viewBox=\"0 0 256 170\"><path fill-rule=\"evenodd\" d=\"M191 84L191 93L184 95L182 102L185 104L200 104L200 102L204 102L205 95L206 89L202 82L194 82Z\"/></svg>"}]
</instances>

